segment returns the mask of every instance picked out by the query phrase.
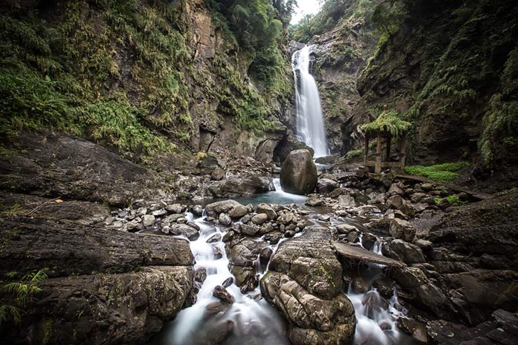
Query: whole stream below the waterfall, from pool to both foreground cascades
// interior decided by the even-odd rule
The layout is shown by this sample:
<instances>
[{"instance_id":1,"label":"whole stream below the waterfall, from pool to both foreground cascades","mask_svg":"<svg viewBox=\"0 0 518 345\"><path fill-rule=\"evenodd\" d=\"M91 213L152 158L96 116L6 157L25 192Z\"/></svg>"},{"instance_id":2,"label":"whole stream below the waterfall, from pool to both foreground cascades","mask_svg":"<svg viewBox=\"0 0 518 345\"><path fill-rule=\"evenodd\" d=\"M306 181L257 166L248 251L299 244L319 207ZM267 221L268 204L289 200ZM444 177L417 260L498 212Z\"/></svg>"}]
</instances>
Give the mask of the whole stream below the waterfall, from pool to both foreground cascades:
<instances>
[{"instance_id":1,"label":"whole stream below the waterfall, from pool to both foreground cascades","mask_svg":"<svg viewBox=\"0 0 518 345\"><path fill-rule=\"evenodd\" d=\"M245 205L246 203L302 205L307 199L305 196L283 192L278 179L274 179L274 184L276 191L236 200ZM319 215L316 213L316 216ZM313 214L313 216L315 215ZM257 287L255 290L243 294L235 285L234 277L229 270L230 261L225 253L225 243L222 241L223 235L230 227L204 221L204 216L195 219L190 212L186 212L186 218L200 227L200 237L190 242L190 248L196 260L195 271L204 270L207 272L207 279L204 280L197 293L195 304L183 309L174 321L165 323L161 332L152 339L151 344L290 344L286 322L279 312L261 297L260 288ZM318 218L309 220L314 223L319 222ZM356 221L350 223L357 225ZM297 233L295 236L298 237L302 233ZM286 240L290 239L283 238L275 245L269 244L262 237L255 238L254 241L258 242L261 248L271 248L275 254L279 244ZM372 249L377 254L381 254L380 243L378 239ZM259 258L256 267L260 277L267 273L267 265L260 267ZM363 277L367 286L380 277L382 268L381 265L369 265L365 277ZM216 286L223 285L224 281L230 279L232 279L232 284L228 284L227 291L235 302L225 304L213 296L213 291ZM396 292L388 301L383 300L372 287L366 293L355 293L349 286L344 293L349 297L356 311L358 324L354 338L355 345L417 344L397 328L398 318L404 315L405 310L400 307Z\"/></svg>"}]
</instances>

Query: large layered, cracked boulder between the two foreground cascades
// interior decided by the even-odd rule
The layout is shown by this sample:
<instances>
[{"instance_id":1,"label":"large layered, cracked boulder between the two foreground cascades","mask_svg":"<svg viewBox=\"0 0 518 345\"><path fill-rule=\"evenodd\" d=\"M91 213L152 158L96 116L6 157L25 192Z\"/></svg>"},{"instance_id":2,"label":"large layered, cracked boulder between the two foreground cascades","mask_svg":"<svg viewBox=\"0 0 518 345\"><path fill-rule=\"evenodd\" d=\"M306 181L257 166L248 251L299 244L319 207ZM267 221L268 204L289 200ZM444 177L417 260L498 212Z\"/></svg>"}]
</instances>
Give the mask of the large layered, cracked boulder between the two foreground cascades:
<instances>
[{"instance_id":1,"label":"large layered, cracked boulder between the two foreground cascades","mask_svg":"<svg viewBox=\"0 0 518 345\"><path fill-rule=\"evenodd\" d=\"M288 321L292 344L352 343L356 317L331 240L329 229L312 226L282 242L260 281L262 295Z\"/></svg>"}]
</instances>

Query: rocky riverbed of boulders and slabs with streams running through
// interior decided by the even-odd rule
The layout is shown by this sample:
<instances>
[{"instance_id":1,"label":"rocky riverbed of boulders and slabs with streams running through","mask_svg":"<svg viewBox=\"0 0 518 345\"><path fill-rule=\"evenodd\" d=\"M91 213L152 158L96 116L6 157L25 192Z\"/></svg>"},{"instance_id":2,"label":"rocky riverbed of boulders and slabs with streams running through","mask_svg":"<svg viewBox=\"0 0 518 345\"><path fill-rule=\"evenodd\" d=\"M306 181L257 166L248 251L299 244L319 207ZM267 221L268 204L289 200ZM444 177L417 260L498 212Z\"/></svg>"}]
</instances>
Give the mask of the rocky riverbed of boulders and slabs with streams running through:
<instances>
[{"instance_id":1,"label":"rocky riverbed of boulders and slabs with streams running through","mask_svg":"<svg viewBox=\"0 0 518 345\"><path fill-rule=\"evenodd\" d=\"M14 159L10 191L1 191L0 274L48 275L21 323L2 328L10 344L514 344L518 336L516 193L481 201L440 184L370 179L351 165L319 170L309 197L268 203L283 192L270 191L279 183L266 168L239 175L226 166L219 180L216 159L204 172L195 163L170 195L139 191L140 170L121 175L127 182L111 177L133 185L131 196L110 194L104 179L84 194L66 178L84 165L69 159L69 172ZM43 183L31 193L23 169ZM61 203L38 171L54 174L46 185ZM206 182L183 200L188 181ZM263 202L202 198L202 190L222 196L215 185ZM468 204L450 205L452 194ZM132 202L121 207L123 196ZM193 310L202 323L188 322ZM178 325L183 343L172 340Z\"/></svg>"}]
</instances>

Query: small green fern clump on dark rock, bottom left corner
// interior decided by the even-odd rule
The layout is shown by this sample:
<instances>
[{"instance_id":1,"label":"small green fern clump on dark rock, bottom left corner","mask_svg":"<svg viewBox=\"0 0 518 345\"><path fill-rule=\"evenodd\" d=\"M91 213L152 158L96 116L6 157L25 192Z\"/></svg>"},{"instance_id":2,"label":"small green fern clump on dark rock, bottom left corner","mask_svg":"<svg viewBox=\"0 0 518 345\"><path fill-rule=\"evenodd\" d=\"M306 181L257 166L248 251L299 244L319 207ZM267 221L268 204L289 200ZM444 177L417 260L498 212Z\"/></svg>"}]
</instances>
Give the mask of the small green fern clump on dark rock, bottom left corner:
<instances>
[{"instance_id":1,"label":"small green fern clump on dark rock, bottom left corner","mask_svg":"<svg viewBox=\"0 0 518 345\"><path fill-rule=\"evenodd\" d=\"M15 275L16 273L13 272L13 274L8 274L8 277L13 278ZM22 321L23 312L41 292L39 285L45 279L47 279L47 274L44 270L28 272L20 281L5 284L1 288L1 291L10 295L11 299L8 304L0 305L0 326L8 321L15 323Z\"/></svg>"}]
</instances>

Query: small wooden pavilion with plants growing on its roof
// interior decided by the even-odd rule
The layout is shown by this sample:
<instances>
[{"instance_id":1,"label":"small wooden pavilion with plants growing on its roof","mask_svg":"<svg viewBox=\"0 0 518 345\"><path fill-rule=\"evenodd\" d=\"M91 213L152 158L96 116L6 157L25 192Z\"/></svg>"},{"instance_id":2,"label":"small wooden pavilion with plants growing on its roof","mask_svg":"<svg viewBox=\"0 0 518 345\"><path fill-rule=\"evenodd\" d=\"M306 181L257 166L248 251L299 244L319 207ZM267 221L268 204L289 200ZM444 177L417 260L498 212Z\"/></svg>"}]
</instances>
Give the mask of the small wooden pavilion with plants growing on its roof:
<instances>
[{"instance_id":1,"label":"small wooden pavilion with plants growing on its roof","mask_svg":"<svg viewBox=\"0 0 518 345\"><path fill-rule=\"evenodd\" d=\"M387 112L386 105L383 112L373 122L364 124L361 129L365 135L365 152L363 154L363 165L374 167L374 174L379 175L383 168L395 168L402 170L405 166L407 150L407 133L412 124L399 118L395 111ZM376 139L376 155L374 161L369 161L369 142ZM381 141L385 140L385 152L381 150ZM391 145L400 152L398 161L391 161Z\"/></svg>"}]
</instances>

